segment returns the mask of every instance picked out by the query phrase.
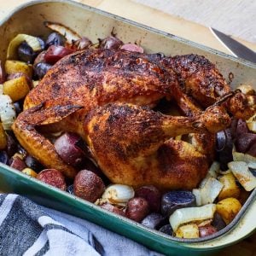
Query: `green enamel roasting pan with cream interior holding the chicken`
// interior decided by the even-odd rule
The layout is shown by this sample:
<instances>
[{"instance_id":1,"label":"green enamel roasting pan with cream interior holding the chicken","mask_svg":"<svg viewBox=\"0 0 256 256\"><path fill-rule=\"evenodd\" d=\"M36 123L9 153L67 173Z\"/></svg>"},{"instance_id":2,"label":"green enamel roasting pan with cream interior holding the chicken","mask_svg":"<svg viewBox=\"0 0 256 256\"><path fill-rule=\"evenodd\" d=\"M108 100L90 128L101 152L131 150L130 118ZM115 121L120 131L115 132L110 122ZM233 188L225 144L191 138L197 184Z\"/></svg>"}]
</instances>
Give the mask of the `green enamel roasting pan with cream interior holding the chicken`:
<instances>
[{"instance_id":1,"label":"green enamel roasting pan with cream interior holding the chicken","mask_svg":"<svg viewBox=\"0 0 256 256\"><path fill-rule=\"evenodd\" d=\"M0 21L0 59L5 61L9 41L18 33L45 37L49 30L45 20L60 22L71 27L93 42L105 38L112 31L124 42L136 42L146 52L162 52L166 55L199 54L215 63L226 79L234 77L233 88L239 84L256 86L256 65L218 52L183 38L143 26L131 20L111 15L80 3L70 1L36 1L22 5ZM255 88L256 89L256 88ZM256 230L256 190L252 192L239 214L224 230L205 239L183 240L149 230L127 218L123 218L96 207L90 202L55 189L37 179L0 163L0 190L7 193L26 195L46 207L52 207L74 216L85 218L113 230L123 236L140 242L155 251L172 255L208 255L223 247L240 241Z\"/></svg>"}]
</instances>

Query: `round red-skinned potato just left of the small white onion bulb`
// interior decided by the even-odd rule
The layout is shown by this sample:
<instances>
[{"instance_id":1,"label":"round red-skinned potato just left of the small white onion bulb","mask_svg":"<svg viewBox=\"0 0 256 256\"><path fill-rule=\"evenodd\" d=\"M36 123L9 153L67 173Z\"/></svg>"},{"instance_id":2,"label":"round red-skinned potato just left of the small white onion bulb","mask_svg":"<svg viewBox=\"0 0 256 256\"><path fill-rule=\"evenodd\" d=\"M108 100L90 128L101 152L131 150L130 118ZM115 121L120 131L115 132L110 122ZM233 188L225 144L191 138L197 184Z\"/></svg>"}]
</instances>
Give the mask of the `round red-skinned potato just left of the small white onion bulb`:
<instances>
[{"instance_id":1,"label":"round red-skinned potato just left of the small white onion bulb","mask_svg":"<svg viewBox=\"0 0 256 256\"><path fill-rule=\"evenodd\" d=\"M73 194L86 201L95 202L104 192L105 185L101 177L88 170L80 171L73 182Z\"/></svg>"}]
</instances>

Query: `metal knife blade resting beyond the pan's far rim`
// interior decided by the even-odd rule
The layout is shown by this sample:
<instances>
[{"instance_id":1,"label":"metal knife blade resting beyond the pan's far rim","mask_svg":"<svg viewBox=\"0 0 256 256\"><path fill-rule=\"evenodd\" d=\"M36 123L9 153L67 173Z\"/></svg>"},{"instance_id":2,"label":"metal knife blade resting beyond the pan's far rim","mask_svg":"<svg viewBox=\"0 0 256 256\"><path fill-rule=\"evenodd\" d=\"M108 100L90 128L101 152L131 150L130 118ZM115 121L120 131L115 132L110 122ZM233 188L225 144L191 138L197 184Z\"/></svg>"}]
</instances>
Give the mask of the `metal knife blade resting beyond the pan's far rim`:
<instances>
[{"instance_id":1,"label":"metal knife blade resting beyond the pan's far rim","mask_svg":"<svg viewBox=\"0 0 256 256\"><path fill-rule=\"evenodd\" d=\"M248 49L245 45L237 42L235 39L230 38L223 32L219 32L217 29L210 27L213 35L224 45L230 52L236 57L240 57L247 61L256 63L256 53L252 49Z\"/></svg>"}]
</instances>

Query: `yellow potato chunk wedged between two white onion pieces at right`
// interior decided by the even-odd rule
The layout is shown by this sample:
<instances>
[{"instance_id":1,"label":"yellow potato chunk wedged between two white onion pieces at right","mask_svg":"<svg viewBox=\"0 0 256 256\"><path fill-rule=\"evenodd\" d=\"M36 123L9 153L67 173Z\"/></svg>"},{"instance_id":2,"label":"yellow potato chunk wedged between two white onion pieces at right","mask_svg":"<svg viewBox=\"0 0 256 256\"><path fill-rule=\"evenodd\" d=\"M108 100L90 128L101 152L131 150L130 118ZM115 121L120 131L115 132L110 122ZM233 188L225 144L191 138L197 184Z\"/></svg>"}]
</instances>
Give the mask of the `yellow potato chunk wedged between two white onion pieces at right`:
<instances>
[{"instance_id":1,"label":"yellow potato chunk wedged between two white onion pieces at right","mask_svg":"<svg viewBox=\"0 0 256 256\"><path fill-rule=\"evenodd\" d=\"M236 178L232 173L225 174L218 178L218 180L224 184L218 195L218 201L221 201L228 197L238 198L240 195L240 189L236 184Z\"/></svg>"}]
</instances>

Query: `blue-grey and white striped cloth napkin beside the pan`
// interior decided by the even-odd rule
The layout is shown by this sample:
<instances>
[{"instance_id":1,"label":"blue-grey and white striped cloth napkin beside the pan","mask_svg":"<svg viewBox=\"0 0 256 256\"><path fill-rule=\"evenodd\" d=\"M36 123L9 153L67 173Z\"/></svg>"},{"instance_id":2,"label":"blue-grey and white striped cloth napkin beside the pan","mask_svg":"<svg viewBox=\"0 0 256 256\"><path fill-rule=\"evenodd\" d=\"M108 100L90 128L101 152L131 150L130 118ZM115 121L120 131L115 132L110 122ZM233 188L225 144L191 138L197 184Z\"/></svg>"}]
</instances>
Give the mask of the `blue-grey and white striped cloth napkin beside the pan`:
<instances>
[{"instance_id":1,"label":"blue-grey and white striped cloth napkin beside the pan","mask_svg":"<svg viewBox=\"0 0 256 256\"><path fill-rule=\"evenodd\" d=\"M0 194L0 255L161 254L84 219L38 206L26 197Z\"/></svg>"}]
</instances>

